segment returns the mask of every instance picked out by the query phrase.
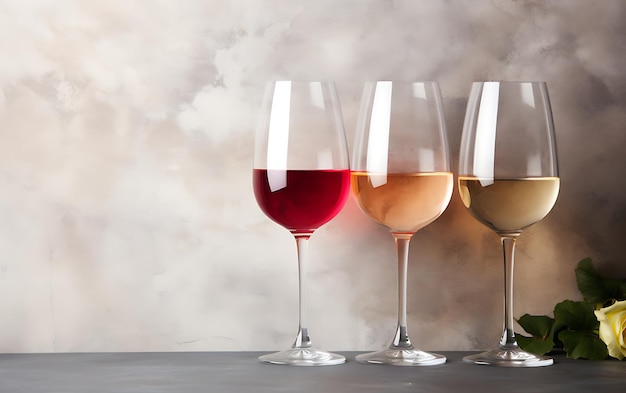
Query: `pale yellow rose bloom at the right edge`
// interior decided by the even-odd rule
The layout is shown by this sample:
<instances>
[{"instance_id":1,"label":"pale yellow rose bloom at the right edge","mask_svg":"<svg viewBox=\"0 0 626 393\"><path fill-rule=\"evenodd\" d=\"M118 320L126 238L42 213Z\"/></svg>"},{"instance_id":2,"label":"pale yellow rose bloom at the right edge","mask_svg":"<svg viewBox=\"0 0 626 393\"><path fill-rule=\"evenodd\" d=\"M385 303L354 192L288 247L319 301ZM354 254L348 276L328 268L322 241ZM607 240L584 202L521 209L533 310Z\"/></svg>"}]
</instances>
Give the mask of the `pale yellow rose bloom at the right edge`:
<instances>
[{"instance_id":1,"label":"pale yellow rose bloom at the right edge","mask_svg":"<svg viewBox=\"0 0 626 393\"><path fill-rule=\"evenodd\" d=\"M600 339L609 355L619 360L626 356L626 300L594 311L600 322Z\"/></svg>"}]
</instances>

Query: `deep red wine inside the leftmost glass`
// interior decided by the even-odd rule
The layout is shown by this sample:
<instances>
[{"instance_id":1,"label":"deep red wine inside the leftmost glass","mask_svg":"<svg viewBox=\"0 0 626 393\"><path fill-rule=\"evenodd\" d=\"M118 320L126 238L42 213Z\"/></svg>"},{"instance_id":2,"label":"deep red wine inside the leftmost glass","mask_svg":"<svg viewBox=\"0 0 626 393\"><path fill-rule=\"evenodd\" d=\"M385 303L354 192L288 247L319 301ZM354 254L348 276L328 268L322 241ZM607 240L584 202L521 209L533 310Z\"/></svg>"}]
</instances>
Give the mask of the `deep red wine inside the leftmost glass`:
<instances>
[{"instance_id":1,"label":"deep red wine inside the leftmost glass","mask_svg":"<svg viewBox=\"0 0 626 393\"><path fill-rule=\"evenodd\" d=\"M254 169L261 210L293 233L313 233L341 211L350 192L350 170Z\"/></svg>"}]
</instances>

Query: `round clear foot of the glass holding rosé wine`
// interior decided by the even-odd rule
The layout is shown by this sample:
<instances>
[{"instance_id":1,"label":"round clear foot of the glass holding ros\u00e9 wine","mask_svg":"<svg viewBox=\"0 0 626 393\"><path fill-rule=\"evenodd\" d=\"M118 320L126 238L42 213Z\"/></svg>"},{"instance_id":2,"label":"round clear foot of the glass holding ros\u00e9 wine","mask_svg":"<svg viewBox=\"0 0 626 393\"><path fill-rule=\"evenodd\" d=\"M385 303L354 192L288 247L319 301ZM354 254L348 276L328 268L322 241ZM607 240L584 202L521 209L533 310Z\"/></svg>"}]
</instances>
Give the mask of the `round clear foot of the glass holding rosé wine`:
<instances>
[{"instance_id":1,"label":"round clear foot of the glass holding ros\u00e9 wine","mask_svg":"<svg viewBox=\"0 0 626 393\"><path fill-rule=\"evenodd\" d=\"M359 363L386 364L390 366L436 366L444 364L446 357L415 348L388 348L356 356Z\"/></svg>"}]
</instances>

